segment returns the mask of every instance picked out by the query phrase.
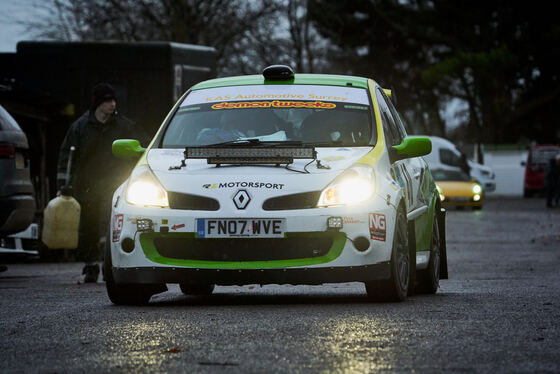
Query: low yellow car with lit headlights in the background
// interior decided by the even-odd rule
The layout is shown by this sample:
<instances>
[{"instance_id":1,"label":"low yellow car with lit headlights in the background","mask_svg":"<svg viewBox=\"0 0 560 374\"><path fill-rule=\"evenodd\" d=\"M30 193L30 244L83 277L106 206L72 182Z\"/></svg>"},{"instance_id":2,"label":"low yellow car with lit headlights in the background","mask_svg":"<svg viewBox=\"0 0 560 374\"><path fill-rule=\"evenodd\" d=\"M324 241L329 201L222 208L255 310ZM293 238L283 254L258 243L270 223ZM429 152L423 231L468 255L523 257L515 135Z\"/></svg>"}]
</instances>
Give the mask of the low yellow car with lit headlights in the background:
<instances>
[{"instance_id":1,"label":"low yellow car with lit headlights in the background","mask_svg":"<svg viewBox=\"0 0 560 374\"><path fill-rule=\"evenodd\" d=\"M462 171L432 170L443 206L482 209L484 195L481 185Z\"/></svg>"}]
</instances>

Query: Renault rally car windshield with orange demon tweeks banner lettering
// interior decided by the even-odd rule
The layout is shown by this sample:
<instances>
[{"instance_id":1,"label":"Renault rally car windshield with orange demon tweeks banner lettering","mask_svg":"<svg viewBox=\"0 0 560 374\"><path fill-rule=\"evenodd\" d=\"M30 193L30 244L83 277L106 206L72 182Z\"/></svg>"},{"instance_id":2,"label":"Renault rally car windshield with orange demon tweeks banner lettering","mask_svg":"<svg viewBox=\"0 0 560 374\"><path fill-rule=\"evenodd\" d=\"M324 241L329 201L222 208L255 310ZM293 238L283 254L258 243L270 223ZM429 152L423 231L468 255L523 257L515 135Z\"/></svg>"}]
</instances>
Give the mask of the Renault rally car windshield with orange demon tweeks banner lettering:
<instances>
[{"instance_id":1,"label":"Renault rally car windshield with orange demon tweeks banner lettering","mask_svg":"<svg viewBox=\"0 0 560 374\"><path fill-rule=\"evenodd\" d=\"M219 87L191 92L162 148L256 139L321 146L374 145L367 90L313 85Z\"/></svg>"}]
</instances>

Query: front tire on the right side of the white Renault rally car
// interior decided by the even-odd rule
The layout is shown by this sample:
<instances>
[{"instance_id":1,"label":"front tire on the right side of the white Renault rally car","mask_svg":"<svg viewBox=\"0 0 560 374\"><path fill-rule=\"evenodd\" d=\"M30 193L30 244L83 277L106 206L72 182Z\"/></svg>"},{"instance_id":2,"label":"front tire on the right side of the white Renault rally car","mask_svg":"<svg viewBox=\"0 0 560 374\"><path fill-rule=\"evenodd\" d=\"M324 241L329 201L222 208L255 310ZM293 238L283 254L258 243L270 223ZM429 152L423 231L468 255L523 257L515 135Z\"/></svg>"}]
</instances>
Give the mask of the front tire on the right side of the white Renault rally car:
<instances>
[{"instance_id":1,"label":"front tire on the right side of the white Renault rally car","mask_svg":"<svg viewBox=\"0 0 560 374\"><path fill-rule=\"evenodd\" d=\"M391 277L388 280L365 283L368 298L371 300L406 300L410 284L410 250L407 220L402 209L397 213L390 268Z\"/></svg>"}]
</instances>

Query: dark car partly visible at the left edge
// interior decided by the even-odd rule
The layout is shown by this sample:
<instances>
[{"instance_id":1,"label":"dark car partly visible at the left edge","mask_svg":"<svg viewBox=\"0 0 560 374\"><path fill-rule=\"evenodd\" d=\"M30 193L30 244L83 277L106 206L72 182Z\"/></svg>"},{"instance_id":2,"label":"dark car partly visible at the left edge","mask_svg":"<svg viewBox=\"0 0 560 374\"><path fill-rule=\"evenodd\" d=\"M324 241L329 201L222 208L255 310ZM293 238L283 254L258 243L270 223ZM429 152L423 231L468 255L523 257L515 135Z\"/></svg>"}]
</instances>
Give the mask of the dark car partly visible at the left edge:
<instances>
[{"instance_id":1,"label":"dark car partly visible at the left edge","mask_svg":"<svg viewBox=\"0 0 560 374\"><path fill-rule=\"evenodd\" d=\"M27 137L0 105L0 237L24 231L35 216Z\"/></svg>"}]
</instances>

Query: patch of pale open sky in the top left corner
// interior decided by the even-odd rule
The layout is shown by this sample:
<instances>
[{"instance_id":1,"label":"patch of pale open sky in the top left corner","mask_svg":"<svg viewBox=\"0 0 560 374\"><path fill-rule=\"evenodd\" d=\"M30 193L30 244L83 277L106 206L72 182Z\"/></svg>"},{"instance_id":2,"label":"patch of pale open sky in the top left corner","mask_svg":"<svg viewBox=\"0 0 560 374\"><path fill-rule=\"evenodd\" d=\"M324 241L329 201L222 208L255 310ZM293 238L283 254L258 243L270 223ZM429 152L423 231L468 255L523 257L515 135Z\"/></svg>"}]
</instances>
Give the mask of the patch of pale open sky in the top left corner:
<instances>
[{"instance_id":1,"label":"patch of pale open sky in the top left corner","mask_svg":"<svg viewBox=\"0 0 560 374\"><path fill-rule=\"evenodd\" d=\"M15 52L17 42L32 39L19 22L36 16L34 4L37 0L0 0L0 52Z\"/></svg>"}]
</instances>

